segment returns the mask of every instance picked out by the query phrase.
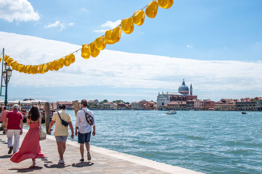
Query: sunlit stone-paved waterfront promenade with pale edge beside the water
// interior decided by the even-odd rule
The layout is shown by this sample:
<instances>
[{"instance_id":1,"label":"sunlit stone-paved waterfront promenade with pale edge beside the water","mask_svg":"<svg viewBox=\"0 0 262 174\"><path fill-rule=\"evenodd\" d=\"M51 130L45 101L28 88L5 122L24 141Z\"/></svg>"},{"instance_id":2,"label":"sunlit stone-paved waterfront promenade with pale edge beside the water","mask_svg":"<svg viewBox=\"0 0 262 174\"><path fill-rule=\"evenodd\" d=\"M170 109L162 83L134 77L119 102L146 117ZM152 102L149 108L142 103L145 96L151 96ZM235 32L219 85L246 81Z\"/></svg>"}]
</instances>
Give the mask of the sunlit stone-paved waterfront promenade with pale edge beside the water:
<instances>
[{"instance_id":1,"label":"sunlit stone-paved waterfront promenade with pale edge beside the water","mask_svg":"<svg viewBox=\"0 0 262 174\"><path fill-rule=\"evenodd\" d=\"M20 137L20 145L28 130L23 129ZM119 153L116 151L90 147L92 160L79 162L79 144L67 140L65 151L65 164L57 164L58 152L54 136L47 135L47 139L40 142L41 151L46 155L45 159L37 159L37 167L29 167L31 159L20 163L10 161L7 148L6 135L0 135L0 173L175 173L175 174L201 174L181 167L171 166L164 163L144 159L141 157ZM86 152L85 152L86 153ZM86 159L85 159L86 160ZM203 174L203 173L202 173Z\"/></svg>"}]
</instances>

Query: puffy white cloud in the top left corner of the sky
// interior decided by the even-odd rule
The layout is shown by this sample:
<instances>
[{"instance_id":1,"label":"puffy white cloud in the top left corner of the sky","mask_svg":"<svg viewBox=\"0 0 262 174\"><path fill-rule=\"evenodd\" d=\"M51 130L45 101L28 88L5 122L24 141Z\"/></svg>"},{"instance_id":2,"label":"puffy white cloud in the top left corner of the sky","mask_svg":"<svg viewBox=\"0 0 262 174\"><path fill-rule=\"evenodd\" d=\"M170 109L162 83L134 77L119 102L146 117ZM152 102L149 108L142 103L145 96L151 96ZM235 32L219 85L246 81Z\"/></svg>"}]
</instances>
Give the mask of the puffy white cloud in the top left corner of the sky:
<instances>
[{"instance_id":1,"label":"puffy white cloud in the top left corner of the sky","mask_svg":"<svg viewBox=\"0 0 262 174\"><path fill-rule=\"evenodd\" d=\"M26 0L0 0L0 18L13 22L39 20L40 16Z\"/></svg>"}]
</instances>

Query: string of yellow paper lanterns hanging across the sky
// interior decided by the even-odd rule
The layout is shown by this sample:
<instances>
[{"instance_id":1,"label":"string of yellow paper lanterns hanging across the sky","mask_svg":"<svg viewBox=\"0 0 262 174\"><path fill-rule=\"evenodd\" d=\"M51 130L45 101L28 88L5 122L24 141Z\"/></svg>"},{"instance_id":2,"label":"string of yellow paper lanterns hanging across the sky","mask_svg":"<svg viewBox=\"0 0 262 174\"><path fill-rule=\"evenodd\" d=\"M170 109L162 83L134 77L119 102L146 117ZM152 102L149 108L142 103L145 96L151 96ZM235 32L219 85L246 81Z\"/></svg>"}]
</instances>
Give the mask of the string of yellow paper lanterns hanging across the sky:
<instances>
[{"instance_id":1,"label":"string of yellow paper lanterns hanging across the sky","mask_svg":"<svg viewBox=\"0 0 262 174\"><path fill-rule=\"evenodd\" d=\"M113 30L107 30L105 32L105 35L96 38L95 41L91 42L90 44L82 45L81 57L83 57L84 59L89 59L90 56L97 57L100 53L100 50L105 49L107 44L114 44L116 42L119 42L121 38L121 30L126 34L131 34L134 31L134 24L140 26L144 23L145 14L149 18L155 18L158 7L167 9L170 8L172 5L173 5L173 0L158 0L158 1L154 0L150 2L146 6L145 12L143 10L145 7L141 10L135 11L132 17L123 19L121 21L121 24L118 25ZM14 61L13 58L10 58L7 55L4 56L4 61L7 63L8 66L12 66L13 70L17 70L19 72L23 72L27 74L37 74L37 73L43 74L48 72L48 70L58 71L58 69L63 68L63 66L69 66L71 63L74 63L75 56L73 53L65 56L64 58L62 57L52 62L43 63L39 65L23 65L18 63L17 61Z\"/></svg>"}]
</instances>

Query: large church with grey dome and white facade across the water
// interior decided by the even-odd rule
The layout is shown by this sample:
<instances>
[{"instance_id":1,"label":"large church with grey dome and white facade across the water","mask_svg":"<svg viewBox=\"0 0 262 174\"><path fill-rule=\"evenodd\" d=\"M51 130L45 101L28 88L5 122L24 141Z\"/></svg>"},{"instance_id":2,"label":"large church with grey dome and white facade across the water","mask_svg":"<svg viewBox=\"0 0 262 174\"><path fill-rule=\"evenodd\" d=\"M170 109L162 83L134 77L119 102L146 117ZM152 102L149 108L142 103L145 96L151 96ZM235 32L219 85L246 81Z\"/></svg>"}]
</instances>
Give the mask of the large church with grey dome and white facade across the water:
<instances>
[{"instance_id":1,"label":"large church with grey dome and white facade across the water","mask_svg":"<svg viewBox=\"0 0 262 174\"><path fill-rule=\"evenodd\" d=\"M158 93L156 103L157 103L157 107L161 107L173 101L187 101L191 99L197 99L197 95L193 94L192 84L190 85L190 93L189 93L189 88L187 85L185 85L185 81L183 79L182 85L179 86L177 93L176 92L163 93L162 91L162 94Z\"/></svg>"}]
</instances>

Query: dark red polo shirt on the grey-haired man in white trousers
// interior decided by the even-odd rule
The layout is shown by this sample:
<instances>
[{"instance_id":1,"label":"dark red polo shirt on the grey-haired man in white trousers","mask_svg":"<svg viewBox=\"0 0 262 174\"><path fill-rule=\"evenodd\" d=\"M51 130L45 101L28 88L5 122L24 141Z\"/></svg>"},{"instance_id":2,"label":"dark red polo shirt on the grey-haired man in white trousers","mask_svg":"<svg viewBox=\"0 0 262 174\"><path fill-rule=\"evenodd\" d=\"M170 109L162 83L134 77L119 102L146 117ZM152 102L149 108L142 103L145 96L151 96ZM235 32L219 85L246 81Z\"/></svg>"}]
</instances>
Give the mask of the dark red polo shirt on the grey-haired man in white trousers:
<instances>
[{"instance_id":1,"label":"dark red polo shirt on the grey-haired man in white trousers","mask_svg":"<svg viewBox=\"0 0 262 174\"><path fill-rule=\"evenodd\" d=\"M8 111L6 118L8 118L7 129L20 130L20 120L23 120L23 115L17 110Z\"/></svg>"}]
</instances>

